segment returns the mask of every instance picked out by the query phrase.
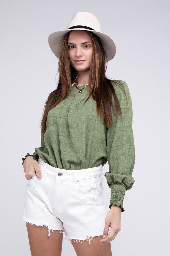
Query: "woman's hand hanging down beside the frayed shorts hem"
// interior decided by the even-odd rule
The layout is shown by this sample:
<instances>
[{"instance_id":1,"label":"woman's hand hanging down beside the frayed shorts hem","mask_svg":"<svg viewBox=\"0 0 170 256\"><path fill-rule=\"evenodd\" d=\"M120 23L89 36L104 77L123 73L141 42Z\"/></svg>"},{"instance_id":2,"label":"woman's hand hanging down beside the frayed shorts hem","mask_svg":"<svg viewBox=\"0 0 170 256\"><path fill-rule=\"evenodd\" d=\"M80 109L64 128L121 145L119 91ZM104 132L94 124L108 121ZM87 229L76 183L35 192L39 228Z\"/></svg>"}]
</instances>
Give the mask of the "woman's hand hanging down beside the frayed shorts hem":
<instances>
[{"instance_id":1,"label":"woman's hand hanging down beside the frayed shorts hem","mask_svg":"<svg viewBox=\"0 0 170 256\"><path fill-rule=\"evenodd\" d=\"M121 211L122 210L119 206L112 205L110 211L107 212L103 232L104 239L100 240L100 244L105 244L114 240L118 232L121 230ZM111 229L108 234L109 227L111 227Z\"/></svg>"}]
</instances>

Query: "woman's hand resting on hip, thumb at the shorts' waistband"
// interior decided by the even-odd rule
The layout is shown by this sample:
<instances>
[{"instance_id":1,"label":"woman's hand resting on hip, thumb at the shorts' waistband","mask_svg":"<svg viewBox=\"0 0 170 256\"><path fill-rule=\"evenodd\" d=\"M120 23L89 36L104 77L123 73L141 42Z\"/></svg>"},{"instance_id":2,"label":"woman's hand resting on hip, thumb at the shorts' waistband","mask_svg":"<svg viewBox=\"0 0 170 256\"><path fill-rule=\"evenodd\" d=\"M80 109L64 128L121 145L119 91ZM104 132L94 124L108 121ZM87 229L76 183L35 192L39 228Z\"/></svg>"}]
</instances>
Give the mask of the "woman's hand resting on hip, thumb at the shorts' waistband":
<instances>
[{"instance_id":1,"label":"woman's hand resting on hip, thumb at the shorts' waistband","mask_svg":"<svg viewBox=\"0 0 170 256\"><path fill-rule=\"evenodd\" d=\"M27 180L31 180L35 175L41 178L41 171L38 162L32 157L27 156L23 163L25 177Z\"/></svg>"}]
</instances>

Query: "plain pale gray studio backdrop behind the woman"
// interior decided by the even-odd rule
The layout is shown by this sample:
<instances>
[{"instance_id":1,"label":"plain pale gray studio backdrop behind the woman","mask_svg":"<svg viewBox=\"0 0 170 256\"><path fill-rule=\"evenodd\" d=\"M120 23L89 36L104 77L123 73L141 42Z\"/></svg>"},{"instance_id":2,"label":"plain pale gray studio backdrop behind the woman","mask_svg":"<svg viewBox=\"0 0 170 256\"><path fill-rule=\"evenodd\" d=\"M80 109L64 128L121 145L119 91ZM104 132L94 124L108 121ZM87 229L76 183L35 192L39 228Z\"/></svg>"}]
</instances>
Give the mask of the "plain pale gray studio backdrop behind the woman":
<instances>
[{"instance_id":1,"label":"plain pale gray studio backdrop behind the woman","mask_svg":"<svg viewBox=\"0 0 170 256\"><path fill-rule=\"evenodd\" d=\"M117 52L107 76L124 80L133 103L135 183L126 191L116 256L168 255L170 4L161 0L1 0L1 239L2 255L31 255L22 221L27 180L21 158L40 147L40 120L56 88L58 59L50 33L66 29L78 11L93 13ZM103 168L108 172L108 163ZM147 180L145 177L147 176ZM110 189L104 177L106 213ZM62 255L76 255L63 234Z\"/></svg>"}]
</instances>

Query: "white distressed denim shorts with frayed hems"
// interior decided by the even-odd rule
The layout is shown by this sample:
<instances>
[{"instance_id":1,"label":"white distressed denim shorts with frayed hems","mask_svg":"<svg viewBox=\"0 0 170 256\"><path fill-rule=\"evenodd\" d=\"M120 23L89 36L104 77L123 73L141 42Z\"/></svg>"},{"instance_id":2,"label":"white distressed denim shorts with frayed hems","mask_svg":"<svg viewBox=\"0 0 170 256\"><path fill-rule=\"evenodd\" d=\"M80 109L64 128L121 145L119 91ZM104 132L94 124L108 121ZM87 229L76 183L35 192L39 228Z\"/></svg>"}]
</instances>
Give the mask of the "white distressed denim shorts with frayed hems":
<instances>
[{"instance_id":1,"label":"white distressed denim shorts with frayed hems","mask_svg":"<svg viewBox=\"0 0 170 256\"><path fill-rule=\"evenodd\" d=\"M102 165L81 170L55 168L40 157L42 178L27 181L23 221L65 233L76 243L103 235L106 210Z\"/></svg>"}]
</instances>

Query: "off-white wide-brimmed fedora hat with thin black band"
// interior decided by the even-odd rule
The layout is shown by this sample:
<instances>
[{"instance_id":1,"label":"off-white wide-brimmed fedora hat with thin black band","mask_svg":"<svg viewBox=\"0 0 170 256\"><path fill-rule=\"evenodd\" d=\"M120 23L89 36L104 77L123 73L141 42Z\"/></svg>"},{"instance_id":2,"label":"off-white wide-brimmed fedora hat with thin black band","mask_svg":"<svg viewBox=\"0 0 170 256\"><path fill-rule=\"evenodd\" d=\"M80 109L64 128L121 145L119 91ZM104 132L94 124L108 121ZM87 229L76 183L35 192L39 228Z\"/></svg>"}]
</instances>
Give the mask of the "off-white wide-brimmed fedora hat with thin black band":
<instances>
[{"instance_id":1,"label":"off-white wide-brimmed fedora hat with thin black band","mask_svg":"<svg viewBox=\"0 0 170 256\"><path fill-rule=\"evenodd\" d=\"M110 36L101 32L98 19L89 12L76 12L66 30L53 32L48 37L49 46L57 58L60 58L60 50L63 43L62 39L70 30L86 30L93 32L100 38L103 48L105 49L107 54L106 62L113 59L115 56L115 43Z\"/></svg>"}]
</instances>

